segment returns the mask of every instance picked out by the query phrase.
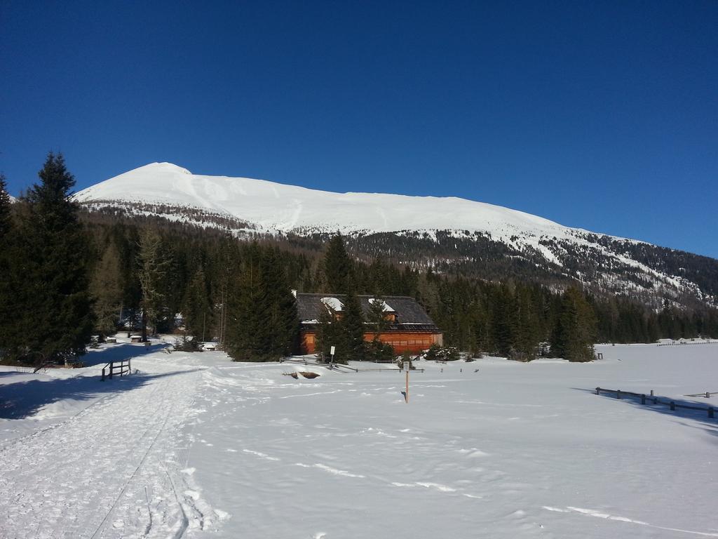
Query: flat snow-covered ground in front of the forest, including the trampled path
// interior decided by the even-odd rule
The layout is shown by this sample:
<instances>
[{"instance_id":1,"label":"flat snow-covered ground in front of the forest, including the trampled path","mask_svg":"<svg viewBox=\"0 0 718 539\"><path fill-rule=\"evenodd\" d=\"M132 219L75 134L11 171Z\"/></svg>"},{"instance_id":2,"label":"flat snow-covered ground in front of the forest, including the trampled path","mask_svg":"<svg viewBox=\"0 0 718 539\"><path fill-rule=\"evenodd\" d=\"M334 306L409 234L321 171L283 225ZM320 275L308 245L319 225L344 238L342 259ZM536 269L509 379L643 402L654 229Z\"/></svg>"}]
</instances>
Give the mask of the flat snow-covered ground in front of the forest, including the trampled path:
<instances>
[{"instance_id":1,"label":"flat snow-covered ground in front of the forest, including the trampled path","mask_svg":"<svg viewBox=\"0 0 718 539\"><path fill-rule=\"evenodd\" d=\"M409 404L398 372L159 346L0 367L0 537L718 537L718 419L593 391L717 406L684 395L718 391L718 344L597 351L421 361Z\"/></svg>"}]
</instances>

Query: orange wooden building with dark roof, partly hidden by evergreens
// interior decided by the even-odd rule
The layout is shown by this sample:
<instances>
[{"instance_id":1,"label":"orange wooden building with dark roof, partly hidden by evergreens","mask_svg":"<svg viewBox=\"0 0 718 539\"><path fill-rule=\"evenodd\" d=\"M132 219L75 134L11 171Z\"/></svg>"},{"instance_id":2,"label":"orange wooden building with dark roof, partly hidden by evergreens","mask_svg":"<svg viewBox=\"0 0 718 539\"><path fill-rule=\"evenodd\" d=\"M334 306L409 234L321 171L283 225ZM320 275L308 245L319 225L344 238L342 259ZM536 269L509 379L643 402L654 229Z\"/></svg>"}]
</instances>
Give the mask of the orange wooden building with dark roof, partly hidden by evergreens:
<instances>
[{"instance_id":1,"label":"orange wooden building with dark roof, partly hidden by evergreens","mask_svg":"<svg viewBox=\"0 0 718 539\"><path fill-rule=\"evenodd\" d=\"M336 294L304 294L297 292L297 310L299 312L299 353L314 354L317 326L322 315L330 312L341 318L344 296ZM359 302L368 318L369 308L374 297L360 295ZM443 334L426 311L414 298L403 295L388 295L382 298L384 313L388 322L386 329L379 333L379 340L391 344L396 354L404 351L418 353L432 344L442 346ZM373 340L376 332L367 324L364 340Z\"/></svg>"}]
</instances>

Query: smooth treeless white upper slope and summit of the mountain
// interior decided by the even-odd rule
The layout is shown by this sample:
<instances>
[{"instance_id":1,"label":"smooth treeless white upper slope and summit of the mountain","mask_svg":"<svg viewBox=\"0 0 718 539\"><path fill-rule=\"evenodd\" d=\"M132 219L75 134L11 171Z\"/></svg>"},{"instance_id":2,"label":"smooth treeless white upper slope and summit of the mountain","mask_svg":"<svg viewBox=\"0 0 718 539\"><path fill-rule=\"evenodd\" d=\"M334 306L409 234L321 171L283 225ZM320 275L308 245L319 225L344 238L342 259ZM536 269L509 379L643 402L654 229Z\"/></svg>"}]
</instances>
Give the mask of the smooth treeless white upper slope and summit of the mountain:
<instances>
[{"instance_id":1,"label":"smooth treeless white upper slope and summit of the mountain","mask_svg":"<svg viewBox=\"0 0 718 539\"><path fill-rule=\"evenodd\" d=\"M171 163L125 172L80 191L77 199L201 208L283 232L468 229L498 236L531 232L563 237L570 230L529 213L463 198L330 193L251 178L194 175Z\"/></svg>"}]
</instances>

